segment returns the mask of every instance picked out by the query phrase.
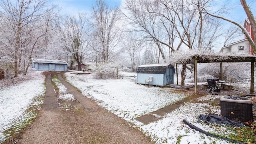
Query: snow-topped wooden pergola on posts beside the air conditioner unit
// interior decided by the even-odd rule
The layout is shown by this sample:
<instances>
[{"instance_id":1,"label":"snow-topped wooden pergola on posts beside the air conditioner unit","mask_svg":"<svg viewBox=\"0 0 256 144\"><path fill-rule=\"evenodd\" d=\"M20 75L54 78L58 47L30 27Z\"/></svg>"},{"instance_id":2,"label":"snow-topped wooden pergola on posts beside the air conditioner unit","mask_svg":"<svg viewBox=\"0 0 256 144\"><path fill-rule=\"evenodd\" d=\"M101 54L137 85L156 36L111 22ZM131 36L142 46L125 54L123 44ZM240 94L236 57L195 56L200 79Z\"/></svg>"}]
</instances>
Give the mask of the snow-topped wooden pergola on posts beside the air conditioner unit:
<instances>
[{"instance_id":1,"label":"snow-topped wooden pergola on posts beside the air conditioner unit","mask_svg":"<svg viewBox=\"0 0 256 144\"><path fill-rule=\"evenodd\" d=\"M220 75L223 79L222 63L223 62L251 62L250 94L254 94L254 63L256 56L244 54L215 54L210 51L188 51L175 52L171 57L171 64L194 64L194 93L197 94L197 64L198 63L220 63Z\"/></svg>"}]
</instances>

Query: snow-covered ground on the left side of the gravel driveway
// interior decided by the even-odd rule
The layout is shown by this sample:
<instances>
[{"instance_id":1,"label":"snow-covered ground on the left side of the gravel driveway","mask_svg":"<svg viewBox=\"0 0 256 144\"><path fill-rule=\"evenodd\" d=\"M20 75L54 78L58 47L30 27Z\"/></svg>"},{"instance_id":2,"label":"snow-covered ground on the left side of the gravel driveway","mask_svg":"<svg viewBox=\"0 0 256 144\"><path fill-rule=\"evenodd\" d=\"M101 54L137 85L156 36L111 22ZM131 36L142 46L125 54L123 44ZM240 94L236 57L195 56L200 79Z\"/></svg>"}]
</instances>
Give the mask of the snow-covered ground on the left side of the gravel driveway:
<instances>
[{"instance_id":1,"label":"snow-covered ground on the left side of the gravel driveway","mask_svg":"<svg viewBox=\"0 0 256 144\"><path fill-rule=\"evenodd\" d=\"M3 137L2 132L10 128L13 122L26 118L25 110L34 98L44 95L44 76L41 72L35 72L32 77L34 78L0 90L0 138Z\"/></svg>"}]
</instances>

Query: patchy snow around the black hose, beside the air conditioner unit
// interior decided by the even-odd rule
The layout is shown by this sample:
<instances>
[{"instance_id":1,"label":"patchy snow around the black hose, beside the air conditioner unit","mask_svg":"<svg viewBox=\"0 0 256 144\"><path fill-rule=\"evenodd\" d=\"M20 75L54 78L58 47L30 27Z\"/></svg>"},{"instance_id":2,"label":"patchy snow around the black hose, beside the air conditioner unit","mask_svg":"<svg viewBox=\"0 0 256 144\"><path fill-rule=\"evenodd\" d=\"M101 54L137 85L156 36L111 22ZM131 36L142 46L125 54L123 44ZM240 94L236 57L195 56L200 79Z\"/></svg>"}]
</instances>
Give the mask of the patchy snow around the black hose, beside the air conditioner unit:
<instances>
[{"instance_id":1,"label":"patchy snow around the black hose, beside the air conditioner unit","mask_svg":"<svg viewBox=\"0 0 256 144\"><path fill-rule=\"evenodd\" d=\"M176 144L179 137L180 144L210 144L213 143L213 140L217 144L226 144L226 141L208 137L205 134L192 130L182 122L183 119L186 119L206 132L220 135L228 134L226 132L228 130L224 127L218 131L219 129L210 128L209 125L204 123L198 123L198 116L200 115L209 114L211 112L214 112L215 114L220 113L218 108L214 108L211 111L209 111L209 109L211 109L209 104L187 103L177 110L167 114L162 120L141 126L141 128L142 131L147 135L150 135L157 144Z\"/></svg>"}]
</instances>

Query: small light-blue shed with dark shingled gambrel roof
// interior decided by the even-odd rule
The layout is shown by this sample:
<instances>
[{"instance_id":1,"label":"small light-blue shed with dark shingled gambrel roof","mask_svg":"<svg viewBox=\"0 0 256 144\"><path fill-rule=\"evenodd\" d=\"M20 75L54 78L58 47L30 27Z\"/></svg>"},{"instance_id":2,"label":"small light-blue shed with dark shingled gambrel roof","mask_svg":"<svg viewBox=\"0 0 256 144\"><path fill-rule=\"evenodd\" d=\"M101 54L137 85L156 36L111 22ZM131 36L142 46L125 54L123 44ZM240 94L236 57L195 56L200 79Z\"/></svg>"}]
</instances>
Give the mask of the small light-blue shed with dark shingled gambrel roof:
<instances>
[{"instance_id":1,"label":"small light-blue shed with dark shingled gambrel roof","mask_svg":"<svg viewBox=\"0 0 256 144\"><path fill-rule=\"evenodd\" d=\"M171 64L145 64L137 68L137 82L145 84L153 76L152 85L166 86L174 83L175 69Z\"/></svg>"}]
</instances>

